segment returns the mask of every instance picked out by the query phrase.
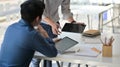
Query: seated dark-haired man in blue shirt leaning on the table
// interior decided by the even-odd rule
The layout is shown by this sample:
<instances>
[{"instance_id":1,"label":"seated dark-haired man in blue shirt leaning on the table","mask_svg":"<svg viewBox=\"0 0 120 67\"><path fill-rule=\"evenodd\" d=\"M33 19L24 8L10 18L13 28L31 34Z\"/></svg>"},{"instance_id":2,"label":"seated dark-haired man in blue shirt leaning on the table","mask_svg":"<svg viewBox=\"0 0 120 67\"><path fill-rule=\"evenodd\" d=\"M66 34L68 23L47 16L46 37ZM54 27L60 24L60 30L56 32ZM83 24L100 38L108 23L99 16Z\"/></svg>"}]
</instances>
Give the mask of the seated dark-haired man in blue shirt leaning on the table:
<instances>
[{"instance_id":1,"label":"seated dark-haired man in blue shirt leaning on the table","mask_svg":"<svg viewBox=\"0 0 120 67\"><path fill-rule=\"evenodd\" d=\"M39 25L44 8L40 0L21 4L22 19L6 30L0 51L0 67L29 67L35 51L48 57L57 55L53 40Z\"/></svg>"}]
</instances>

